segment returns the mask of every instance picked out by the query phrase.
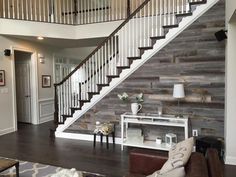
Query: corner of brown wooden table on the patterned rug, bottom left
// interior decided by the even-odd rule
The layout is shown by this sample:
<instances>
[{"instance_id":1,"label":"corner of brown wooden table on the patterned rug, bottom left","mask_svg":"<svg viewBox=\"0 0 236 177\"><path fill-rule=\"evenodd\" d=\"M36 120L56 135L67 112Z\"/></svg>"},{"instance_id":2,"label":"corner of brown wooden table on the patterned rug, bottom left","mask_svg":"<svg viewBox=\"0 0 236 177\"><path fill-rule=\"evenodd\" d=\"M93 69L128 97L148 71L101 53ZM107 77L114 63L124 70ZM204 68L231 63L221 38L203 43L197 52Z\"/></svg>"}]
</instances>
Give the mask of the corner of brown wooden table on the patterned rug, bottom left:
<instances>
[{"instance_id":1,"label":"corner of brown wooden table on the patterned rug, bottom left","mask_svg":"<svg viewBox=\"0 0 236 177\"><path fill-rule=\"evenodd\" d=\"M15 166L16 177L19 177L19 161L0 157L0 173Z\"/></svg>"}]
</instances>

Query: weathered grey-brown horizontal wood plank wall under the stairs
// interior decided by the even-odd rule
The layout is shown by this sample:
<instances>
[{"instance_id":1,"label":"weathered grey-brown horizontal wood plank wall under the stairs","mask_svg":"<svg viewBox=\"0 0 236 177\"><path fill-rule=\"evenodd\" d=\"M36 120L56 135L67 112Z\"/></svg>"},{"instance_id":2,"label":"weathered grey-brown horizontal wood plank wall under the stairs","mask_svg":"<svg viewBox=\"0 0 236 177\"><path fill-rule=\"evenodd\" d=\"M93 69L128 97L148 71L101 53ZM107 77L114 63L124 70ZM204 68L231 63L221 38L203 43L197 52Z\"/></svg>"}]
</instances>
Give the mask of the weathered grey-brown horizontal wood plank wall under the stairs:
<instances>
[{"instance_id":1,"label":"weathered grey-brown horizontal wood plank wall under the stairs","mask_svg":"<svg viewBox=\"0 0 236 177\"><path fill-rule=\"evenodd\" d=\"M173 85L184 82L186 98L180 102L180 112L189 115L190 128L201 135L224 137L225 42L214 37L224 29L224 17L224 1L220 1L66 131L90 130L96 121L120 122L120 114L130 111L130 103L117 97L123 92L133 96L144 93L142 112L157 113L162 104L164 113L176 114ZM183 138L181 129L144 129L148 139L163 137L166 132Z\"/></svg>"}]
</instances>

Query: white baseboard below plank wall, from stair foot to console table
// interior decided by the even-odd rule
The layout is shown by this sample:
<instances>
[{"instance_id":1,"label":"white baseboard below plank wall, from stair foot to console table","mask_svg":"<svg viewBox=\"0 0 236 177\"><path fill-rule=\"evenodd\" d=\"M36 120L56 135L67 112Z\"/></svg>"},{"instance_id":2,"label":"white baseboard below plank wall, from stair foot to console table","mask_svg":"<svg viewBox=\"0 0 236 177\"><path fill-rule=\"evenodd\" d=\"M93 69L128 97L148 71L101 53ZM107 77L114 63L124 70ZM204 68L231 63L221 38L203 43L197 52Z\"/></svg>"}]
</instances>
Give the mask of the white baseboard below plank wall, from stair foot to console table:
<instances>
[{"instance_id":1,"label":"white baseboard below plank wall, from stair foot to console table","mask_svg":"<svg viewBox=\"0 0 236 177\"><path fill-rule=\"evenodd\" d=\"M93 141L93 135L89 134L77 134L77 133L66 133L66 132L56 132L55 136L57 138L66 138L66 139L74 139L74 140L85 140L85 141ZM100 142L100 136L96 138L96 142ZM112 143L112 137L109 137L109 143ZM121 144L121 138L115 138L116 144Z\"/></svg>"}]
</instances>

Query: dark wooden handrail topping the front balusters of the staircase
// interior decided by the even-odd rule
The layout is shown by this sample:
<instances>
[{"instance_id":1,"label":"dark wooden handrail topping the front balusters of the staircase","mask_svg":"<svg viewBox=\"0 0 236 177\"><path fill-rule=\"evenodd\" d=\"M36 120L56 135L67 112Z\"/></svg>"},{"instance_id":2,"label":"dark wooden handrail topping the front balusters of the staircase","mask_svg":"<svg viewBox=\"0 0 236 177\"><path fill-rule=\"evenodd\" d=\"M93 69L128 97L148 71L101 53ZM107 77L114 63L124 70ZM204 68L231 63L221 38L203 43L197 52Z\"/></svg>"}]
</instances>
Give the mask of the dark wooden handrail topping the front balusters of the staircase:
<instances>
[{"instance_id":1,"label":"dark wooden handrail topping the front balusters of the staircase","mask_svg":"<svg viewBox=\"0 0 236 177\"><path fill-rule=\"evenodd\" d=\"M93 56L104 44L106 44L112 36L114 36L123 26L126 25L126 23L129 22L130 19L132 19L150 0L145 0L132 14L129 15L128 18L120 25L118 26L104 41L102 41L96 49L93 50L73 71L71 71L61 82L55 83L54 86L62 85L64 82L66 82L67 79L69 79L86 61L88 61L91 56Z\"/></svg>"}]
</instances>

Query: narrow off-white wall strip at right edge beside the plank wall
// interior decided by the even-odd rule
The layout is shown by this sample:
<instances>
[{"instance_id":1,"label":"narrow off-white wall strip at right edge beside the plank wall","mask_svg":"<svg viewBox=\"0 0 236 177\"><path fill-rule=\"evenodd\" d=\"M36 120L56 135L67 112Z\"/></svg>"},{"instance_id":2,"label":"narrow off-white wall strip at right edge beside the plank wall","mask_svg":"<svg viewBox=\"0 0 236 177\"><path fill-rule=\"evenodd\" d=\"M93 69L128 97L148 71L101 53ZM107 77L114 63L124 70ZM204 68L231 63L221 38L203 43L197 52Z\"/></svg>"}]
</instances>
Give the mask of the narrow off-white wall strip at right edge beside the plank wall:
<instances>
[{"instance_id":1,"label":"narrow off-white wall strip at right edge beside the plank wall","mask_svg":"<svg viewBox=\"0 0 236 177\"><path fill-rule=\"evenodd\" d=\"M236 165L236 23L228 24L226 49L226 163Z\"/></svg>"}]
</instances>

